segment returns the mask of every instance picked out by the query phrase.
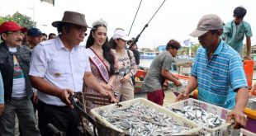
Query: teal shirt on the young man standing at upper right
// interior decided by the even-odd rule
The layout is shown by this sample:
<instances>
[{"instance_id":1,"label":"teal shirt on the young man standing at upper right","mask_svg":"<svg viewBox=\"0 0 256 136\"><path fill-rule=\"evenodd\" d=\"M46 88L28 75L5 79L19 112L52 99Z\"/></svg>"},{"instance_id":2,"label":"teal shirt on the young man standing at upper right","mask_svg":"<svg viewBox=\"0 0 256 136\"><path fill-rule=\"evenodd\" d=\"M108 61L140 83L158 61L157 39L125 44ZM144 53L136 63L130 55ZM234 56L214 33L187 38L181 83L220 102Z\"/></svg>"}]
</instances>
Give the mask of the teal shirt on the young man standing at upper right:
<instances>
[{"instance_id":1,"label":"teal shirt on the young man standing at upper right","mask_svg":"<svg viewBox=\"0 0 256 136\"><path fill-rule=\"evenodd\" d=\"M235 25L235 21L229 21L225 24L221 37L225 38L227 45L230 45L239 52L240 49L243 49L244 35L246 37L253 36L249 23L242 21L239 26L237 26Z\"/></svg>"}]
</instances>

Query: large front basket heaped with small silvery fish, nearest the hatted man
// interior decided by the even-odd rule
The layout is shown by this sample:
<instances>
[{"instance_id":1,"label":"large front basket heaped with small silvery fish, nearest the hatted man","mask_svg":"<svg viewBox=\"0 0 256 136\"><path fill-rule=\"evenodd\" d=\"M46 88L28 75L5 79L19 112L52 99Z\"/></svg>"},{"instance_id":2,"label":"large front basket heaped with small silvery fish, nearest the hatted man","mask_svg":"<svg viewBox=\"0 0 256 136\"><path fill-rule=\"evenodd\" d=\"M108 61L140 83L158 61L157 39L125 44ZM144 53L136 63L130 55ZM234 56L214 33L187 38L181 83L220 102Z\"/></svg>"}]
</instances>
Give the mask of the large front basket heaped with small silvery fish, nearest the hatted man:
<instances>
[{"instance_id":1,"label":"large front basket heaped with small silvery fish, nearest the hatted man","mask_svg":"<svg viewBox=\"0 0 256 136\"><path fill-rule=\"evenodd\" d=\"M91 110L95 120L127 135L195 135L201 127L175 115L163 106L145 98L135 98Z\"/></svg>"}]
</instances>

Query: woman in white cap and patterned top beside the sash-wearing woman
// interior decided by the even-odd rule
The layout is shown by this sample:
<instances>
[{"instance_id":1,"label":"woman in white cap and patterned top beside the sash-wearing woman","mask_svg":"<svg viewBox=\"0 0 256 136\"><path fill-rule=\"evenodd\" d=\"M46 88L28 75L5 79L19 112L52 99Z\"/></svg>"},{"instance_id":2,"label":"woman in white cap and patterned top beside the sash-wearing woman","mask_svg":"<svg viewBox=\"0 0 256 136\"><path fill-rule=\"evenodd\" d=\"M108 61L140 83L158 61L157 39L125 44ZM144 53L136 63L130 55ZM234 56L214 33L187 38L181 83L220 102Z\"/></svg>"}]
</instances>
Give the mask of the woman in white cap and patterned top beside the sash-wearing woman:
<instances>
[{"instance_id":1,"label":"woman in white cap and patterned top beside the sash-wearing woman","mask_svg":"<svg viewBox=\"0 0 256 136\"><path fill-rule=\"evenodd\" d=\"M135 57L130 49L126 49L126 42L129 37L125 30L117 28L110 40L112 49L116 49L118 58L119 73L115 80L115 92L119 95L117 101L127 101L134 98L134 85L131 77L137 72Z\"/></svg>"}]
</instances>

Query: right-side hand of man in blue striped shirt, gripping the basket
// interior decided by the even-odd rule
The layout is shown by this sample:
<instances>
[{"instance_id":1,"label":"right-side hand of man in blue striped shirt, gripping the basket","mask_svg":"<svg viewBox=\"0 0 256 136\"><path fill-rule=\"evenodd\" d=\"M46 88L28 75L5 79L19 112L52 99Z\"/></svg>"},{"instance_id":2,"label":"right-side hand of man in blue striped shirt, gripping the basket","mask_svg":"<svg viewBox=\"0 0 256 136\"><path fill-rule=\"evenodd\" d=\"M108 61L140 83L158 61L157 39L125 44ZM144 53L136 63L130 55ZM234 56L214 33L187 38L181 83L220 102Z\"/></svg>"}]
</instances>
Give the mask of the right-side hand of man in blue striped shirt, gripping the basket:
<instances>
[{"instance_id":1,"label":"right-side hand of man in blue striped shirt, gripping the basket","mask_svg":"<svg viewBox=\"0 0 256 136\"><path fill-rule=\"evenodd\" d=\"M247 116L244 115L244 111L236 108L228 114L226 121L230 122L232 119L235 119L234 129L243 128L247 122Z\"/></svg>"}]
</instances>

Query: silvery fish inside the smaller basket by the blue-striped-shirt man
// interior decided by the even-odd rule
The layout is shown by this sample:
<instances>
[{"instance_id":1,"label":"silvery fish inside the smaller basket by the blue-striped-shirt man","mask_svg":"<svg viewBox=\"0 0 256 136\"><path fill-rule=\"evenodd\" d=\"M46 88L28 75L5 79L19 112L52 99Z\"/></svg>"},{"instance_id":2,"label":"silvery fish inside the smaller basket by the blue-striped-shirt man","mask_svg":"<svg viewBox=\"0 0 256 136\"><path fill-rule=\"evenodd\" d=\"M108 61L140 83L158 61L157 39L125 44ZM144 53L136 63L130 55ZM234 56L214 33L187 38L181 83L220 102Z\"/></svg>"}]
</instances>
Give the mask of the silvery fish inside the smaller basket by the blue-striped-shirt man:
<instances>
[{"instance_id":1,"label":"silvery fish inside the smaller basket by the blue-striped-shirt man","mask_svg":"<svg viewBox=\"0 0 256 136\"><path fill-rule=\"evenodd\" d=\"M192 120L197 124L206 126L210 129L216 128L221 124L225 124L225 120L221 119L218 115L208 113L206 110L199 109L195 106L184 106L182 110L171 107L168 107L168 109L173 110L173 112L178 115L186 117L188 120Z\"/></svg>"}]
</instances>

